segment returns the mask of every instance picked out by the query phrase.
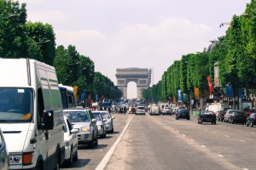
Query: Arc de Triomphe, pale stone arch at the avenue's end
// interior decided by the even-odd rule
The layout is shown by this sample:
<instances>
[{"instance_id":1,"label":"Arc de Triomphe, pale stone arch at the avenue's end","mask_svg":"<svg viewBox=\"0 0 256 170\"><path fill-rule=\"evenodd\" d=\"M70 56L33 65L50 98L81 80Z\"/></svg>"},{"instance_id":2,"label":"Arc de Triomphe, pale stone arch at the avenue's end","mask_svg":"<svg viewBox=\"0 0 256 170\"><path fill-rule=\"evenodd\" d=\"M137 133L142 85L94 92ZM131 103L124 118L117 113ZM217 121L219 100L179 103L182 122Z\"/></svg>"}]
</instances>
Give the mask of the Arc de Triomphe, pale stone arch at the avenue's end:
<instances>
[{"instance_id":1,"label":"Arc de Triomphe, pale stone arch at the avenue's end","mask_svg":"<svg viewBox=\"0 0 256 170\"><path fill-rule=\"evenodd\" d=\"M123 92L123 99L127 99L127 84L137 84L137 99L142 99L142 91L148 88L151 83L151 69L125 68L117 69L115 77L117 87Z\"/></svg>"}]
</instances>

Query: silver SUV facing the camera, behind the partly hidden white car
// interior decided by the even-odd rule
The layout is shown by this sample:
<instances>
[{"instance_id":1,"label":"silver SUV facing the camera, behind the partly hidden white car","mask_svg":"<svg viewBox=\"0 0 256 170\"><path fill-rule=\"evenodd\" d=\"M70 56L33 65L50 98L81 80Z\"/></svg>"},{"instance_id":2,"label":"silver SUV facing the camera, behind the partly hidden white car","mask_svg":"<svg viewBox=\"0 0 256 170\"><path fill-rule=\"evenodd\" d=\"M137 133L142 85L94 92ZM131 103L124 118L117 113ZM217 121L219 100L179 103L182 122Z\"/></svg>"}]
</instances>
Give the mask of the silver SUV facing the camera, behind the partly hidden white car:
<instances>
[{"instance_id":1,"label":"silver SUV facing the camera, behind the partly hidden white car","mask_svg":"<svg viewBox=\"0 0 256 170\"><path fill-rule=\"evenodd\" d=\"M64 110L64 115L72 122L74 128L79 129L79 144L88 144L90 148L98 144L96 119L90 118L89 111L84 109Z\"/></svg>"}]
</instances>

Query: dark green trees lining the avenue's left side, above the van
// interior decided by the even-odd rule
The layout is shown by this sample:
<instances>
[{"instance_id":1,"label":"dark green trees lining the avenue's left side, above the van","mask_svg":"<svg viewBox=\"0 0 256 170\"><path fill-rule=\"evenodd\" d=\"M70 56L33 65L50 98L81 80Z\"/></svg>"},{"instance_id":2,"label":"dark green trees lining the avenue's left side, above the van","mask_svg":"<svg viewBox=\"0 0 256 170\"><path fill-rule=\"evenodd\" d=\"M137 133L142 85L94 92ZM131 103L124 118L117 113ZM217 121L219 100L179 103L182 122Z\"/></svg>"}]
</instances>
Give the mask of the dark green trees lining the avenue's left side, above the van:
<instances>
[{"instance_id":1,"label":"dark green trees lining the avenue's left side, above the van","mask_svg":"<svg viewBox=\"0 0 256 170\"><path fill-rule=\"evenodd\" d=\"M94 62L73 45L55 47L55 32L49 24L26 21L26 3L0 0L0 58L37 59L54 65L60 83L79 87L95 99L119 99L122 92L108 77L95 72Z\"/></svg>"}]
</instances>

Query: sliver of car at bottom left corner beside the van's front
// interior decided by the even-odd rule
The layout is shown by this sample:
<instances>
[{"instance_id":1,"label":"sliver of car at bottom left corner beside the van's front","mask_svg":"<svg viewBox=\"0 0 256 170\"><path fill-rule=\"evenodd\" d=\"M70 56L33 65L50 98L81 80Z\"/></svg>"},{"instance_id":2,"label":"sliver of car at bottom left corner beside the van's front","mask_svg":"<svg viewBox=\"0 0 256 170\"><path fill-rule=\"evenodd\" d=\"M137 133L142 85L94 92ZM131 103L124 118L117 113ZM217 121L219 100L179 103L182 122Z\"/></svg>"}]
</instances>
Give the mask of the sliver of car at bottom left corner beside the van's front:
<instances>
[{"instance_id":1,"label":"sliver of car at bottom left corner beside the van's front","mask_svg":"<svg viewBox=\"0 0 256 170\"><path fill-rule=\"evenodd\" d=\"M6 150L5 140L3 139L3 132L0 128L0 169L7 170L8 168L8 154Z\"/></svg>"}]
</instances>

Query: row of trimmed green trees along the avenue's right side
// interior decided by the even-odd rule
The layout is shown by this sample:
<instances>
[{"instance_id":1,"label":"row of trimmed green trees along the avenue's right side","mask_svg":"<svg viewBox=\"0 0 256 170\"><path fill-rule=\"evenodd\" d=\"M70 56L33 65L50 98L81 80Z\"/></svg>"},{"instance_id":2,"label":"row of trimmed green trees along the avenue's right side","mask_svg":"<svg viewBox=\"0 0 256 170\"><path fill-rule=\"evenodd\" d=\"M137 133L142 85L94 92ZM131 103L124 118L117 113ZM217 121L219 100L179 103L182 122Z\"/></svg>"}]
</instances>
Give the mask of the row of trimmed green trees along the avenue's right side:
<instances>
[{"instance_id":1,"label":"row of trimmed green trees along the avenue's right side","mask_svg":"<svg viewBox=\"0 0 256 170\"><path fill-rule=\"evenodd\" d=\"M230 85L234 96L238 88L246 88L247 97L256 95L256 1L247 3L245 12L234 15L226 34L210 50L185 54L174 61L160 82L143 91L143 98L153 102L177 98L177 90L192 94L199 88L201 96L209 96L207 77L214 82L214 64L218 62L221 87Z\"/></svg>"}]
</instances>

